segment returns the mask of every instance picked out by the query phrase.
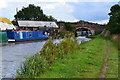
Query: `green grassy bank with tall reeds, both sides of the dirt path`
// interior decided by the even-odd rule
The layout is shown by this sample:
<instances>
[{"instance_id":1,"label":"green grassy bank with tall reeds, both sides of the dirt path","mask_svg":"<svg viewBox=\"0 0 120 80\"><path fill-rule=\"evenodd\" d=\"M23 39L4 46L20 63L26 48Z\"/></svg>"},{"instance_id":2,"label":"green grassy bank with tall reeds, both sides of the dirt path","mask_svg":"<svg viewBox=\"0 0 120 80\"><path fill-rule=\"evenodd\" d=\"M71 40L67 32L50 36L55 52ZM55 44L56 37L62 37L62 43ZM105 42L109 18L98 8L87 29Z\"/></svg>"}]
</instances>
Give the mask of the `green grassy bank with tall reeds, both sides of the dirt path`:
<instances>
[{"instance_id":1,"label":"green grassy bank with tall reeds, both sides of the dirt path","mask_svg":"<svg viewBox=\"0 0 120 80\"><path fill-rule=\"evenodd\" d=\"M117 78L117 48L113 42L108 42L111 55L106 76ZM25 61L17 78L99 78L106 56L105 43L106 39L100 36L81 45L70 39L60 44L50 41L40 53Z\"/></svg>"}]
</instances>

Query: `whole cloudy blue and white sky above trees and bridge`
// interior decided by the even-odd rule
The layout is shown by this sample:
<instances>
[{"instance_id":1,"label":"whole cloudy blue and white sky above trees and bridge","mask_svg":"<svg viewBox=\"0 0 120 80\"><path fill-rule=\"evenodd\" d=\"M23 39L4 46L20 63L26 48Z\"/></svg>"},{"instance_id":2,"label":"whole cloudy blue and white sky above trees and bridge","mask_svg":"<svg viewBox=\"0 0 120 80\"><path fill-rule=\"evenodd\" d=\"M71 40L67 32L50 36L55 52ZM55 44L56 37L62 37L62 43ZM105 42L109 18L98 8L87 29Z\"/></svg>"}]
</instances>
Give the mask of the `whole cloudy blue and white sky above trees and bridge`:
<instances>
[{"instance_id":1,"label":"whole cloudy blue and white sky above trees and bridge","mask_svg":"<svg viewBox=\"0 0 120 80\"><path fill-rule=\"evenodd\" d=\"M108 13L111 6L119 0L0 0L0 17L11 21L16 14L16 8L21 10L29 4L40 6L48 16L58 21L76 22L79 20L105 24L109 21Z\"/></svg>"}]
</instances>

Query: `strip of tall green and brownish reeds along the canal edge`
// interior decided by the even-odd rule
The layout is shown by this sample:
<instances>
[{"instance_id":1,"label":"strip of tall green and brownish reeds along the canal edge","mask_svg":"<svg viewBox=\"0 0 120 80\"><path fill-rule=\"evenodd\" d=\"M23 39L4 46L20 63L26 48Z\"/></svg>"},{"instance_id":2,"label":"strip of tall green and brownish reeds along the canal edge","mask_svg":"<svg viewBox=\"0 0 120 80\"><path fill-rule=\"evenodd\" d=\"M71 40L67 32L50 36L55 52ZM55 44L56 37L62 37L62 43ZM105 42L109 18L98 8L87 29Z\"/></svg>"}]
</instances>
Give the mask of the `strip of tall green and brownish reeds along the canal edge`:
<instances>
[{"instance_id":1,"label":"strip of tall green and brownish reeds along the canal edge","mask_svg":"<svg viewBox=\"0 0 120 80\"><path fill-rule=\"evenodd\" d=\"M29 57L17 70L17 78L40 76L56 59L64 57L79 48L77 39L69 38L56 44L52 40L45 43L42 50Z\"/></svg>"}]
</instances>

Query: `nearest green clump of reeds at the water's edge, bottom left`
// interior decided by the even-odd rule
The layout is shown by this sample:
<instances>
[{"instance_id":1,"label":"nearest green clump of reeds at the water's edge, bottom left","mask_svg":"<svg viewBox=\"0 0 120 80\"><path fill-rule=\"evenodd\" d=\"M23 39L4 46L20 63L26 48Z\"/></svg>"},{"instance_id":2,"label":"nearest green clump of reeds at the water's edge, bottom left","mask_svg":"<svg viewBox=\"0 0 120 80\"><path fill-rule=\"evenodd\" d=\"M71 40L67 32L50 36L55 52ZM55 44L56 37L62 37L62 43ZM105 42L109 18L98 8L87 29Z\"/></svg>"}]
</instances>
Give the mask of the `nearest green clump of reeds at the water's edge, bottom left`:
<instances>
[{"instance_id":1,"label":"nearest green clump of reeds at the water's edge, bottom left","mask_svg":"<svg viewBox=\"0 0 120 80\"><path fill-rule=\"evenodd\" d=\"M17 71L17 78L32 78L47 69L47 63L39 54L29 57Z\"/></svg>"}]
</instances>

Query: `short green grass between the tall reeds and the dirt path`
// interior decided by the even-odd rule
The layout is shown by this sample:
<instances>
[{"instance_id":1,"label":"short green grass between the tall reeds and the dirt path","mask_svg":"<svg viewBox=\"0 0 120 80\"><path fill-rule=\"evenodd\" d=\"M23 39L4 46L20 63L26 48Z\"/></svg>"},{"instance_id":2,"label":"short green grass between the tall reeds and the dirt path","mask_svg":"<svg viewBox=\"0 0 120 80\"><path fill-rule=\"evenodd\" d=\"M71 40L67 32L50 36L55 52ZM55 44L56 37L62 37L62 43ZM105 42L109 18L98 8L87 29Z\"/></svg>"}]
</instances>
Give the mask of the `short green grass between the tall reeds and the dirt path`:
<instances>
[{"instance_id":1,"label":"short green grass between the tall reeds and the dirt path","mask_svg":"<svg viewBox=\"0 0 120 80\"><path fill-rule=\"evenodd\" d=\"M105 56L102 38L83 43L80 48L55 63L40 78L98 78ZM37 77L38 78L38 77Z\"/></svg>"}]
</instances>

